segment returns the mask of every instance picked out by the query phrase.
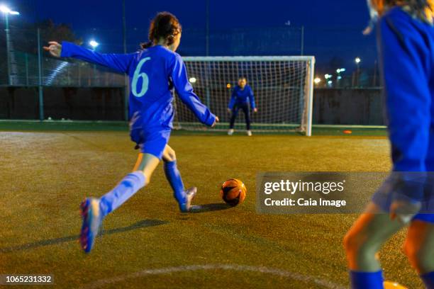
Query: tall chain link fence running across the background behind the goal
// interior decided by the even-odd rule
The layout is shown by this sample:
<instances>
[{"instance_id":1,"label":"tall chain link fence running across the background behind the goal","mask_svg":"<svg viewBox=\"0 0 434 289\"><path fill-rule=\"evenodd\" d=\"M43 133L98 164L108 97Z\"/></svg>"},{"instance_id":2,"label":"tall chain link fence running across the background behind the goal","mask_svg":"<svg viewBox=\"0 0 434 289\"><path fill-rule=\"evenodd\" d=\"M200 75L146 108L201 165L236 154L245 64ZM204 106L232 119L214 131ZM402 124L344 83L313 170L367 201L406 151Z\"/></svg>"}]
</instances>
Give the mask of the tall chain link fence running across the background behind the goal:
<instances>
[{"instance_id":1,"label":"tall chain link fence running across the background behind the goal","mask_svg":"<svg viewBox=\"0 0 434 289\"><path fill-rule=\"evenodd\" d=\"M76 37L71 30L62 29L11 25L0 30L0 119L126 120L127 88L122 74L79 60L50 57L42 50L50 40L74 41L89 47L89 37L95 37L100 42L96 51L121 53L122 31L77 30ZM343 40L343 33L350 37ZM129 28L127 51L138 50L147 35L143 28ZM372 57L374 42L360 35L358 28L283 26L210 33L202 28L184 28L178 52L182 56L315 55L317 89L378 88L377 62ZM335 42L330 44L330 39ZM356 69L355 56L372 59L372 63L362 62ZM345 72L336 73L343 67ZM325 79L325 74L331 77Z\"/></svg>"}]
</instances>

